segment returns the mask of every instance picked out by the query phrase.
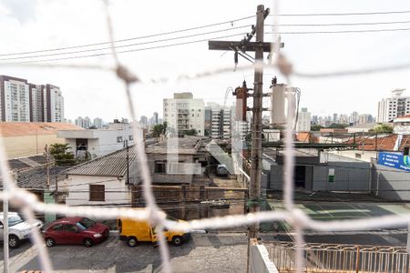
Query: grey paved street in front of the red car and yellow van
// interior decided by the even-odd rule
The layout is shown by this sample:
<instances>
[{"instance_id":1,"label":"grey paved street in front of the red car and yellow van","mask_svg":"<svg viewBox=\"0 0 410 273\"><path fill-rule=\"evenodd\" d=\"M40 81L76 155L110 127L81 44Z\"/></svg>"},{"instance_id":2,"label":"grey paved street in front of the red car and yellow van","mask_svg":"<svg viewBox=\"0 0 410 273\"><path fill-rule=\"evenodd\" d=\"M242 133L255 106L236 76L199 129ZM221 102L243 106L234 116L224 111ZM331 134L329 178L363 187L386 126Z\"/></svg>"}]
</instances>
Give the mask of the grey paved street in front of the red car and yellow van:
<instances>
[{"instance_id":1,"label":"grey paved street in front of the red car and yellow van","mask_svg":"<svg viewBox=\"0 0 410 273\"><path fill-rule=\"evenodd\" d=\"M161 272L159 248L140 244L129 248L117 234L93 248L47 248L55 272ZM244 233L193 234L180 247L169 245L174 272L245 272L247 236ZM3 244L0 271L3 271ZM10 250L10 272L39 270L36 248L30 242Z\"/></svg>"}]
</instances>

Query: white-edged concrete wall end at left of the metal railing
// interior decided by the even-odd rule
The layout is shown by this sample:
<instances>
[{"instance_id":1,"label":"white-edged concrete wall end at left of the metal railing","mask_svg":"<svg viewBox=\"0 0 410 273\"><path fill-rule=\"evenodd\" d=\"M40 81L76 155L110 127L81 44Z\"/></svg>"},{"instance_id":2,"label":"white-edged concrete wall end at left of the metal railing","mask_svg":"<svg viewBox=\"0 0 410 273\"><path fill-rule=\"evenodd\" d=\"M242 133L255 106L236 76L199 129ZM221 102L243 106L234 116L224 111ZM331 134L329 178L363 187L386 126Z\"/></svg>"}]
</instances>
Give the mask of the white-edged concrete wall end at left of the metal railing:
<instances>
[{"instance_id":1,"label":"white-edged concrete wall end at left of the metal railing","mask_svg":"<svg viewBox=\"0 0 410 273\"><path fill-rule=\"evenodd\" d=\"M250 273L279 273L269 258L269 253L265 246L251 243L249 251L251 252L249 260Z\"/></svg>"}]
</instances>

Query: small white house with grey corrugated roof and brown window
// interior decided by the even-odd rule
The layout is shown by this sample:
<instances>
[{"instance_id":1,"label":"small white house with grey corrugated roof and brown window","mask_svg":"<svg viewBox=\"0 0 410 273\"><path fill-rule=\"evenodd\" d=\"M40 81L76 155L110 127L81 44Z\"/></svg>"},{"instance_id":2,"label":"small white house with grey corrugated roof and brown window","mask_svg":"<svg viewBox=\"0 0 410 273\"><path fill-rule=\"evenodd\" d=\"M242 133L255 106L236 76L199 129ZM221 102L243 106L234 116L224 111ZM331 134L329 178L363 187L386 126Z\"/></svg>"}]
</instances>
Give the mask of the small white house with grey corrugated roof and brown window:
<instances>
[{"instance_id":1,"label":"small white house with grey corrugated roof and brown window","mask_svg":"<svg viewBox=\"0 0 410 273\"><path fill-rule=\"evenodd\" d=\"M67 205L130 205L130 189L140 182L136 148L124 148L70 167L64 175L58 192L64 193Z\"/></svg>"}]
</instances>

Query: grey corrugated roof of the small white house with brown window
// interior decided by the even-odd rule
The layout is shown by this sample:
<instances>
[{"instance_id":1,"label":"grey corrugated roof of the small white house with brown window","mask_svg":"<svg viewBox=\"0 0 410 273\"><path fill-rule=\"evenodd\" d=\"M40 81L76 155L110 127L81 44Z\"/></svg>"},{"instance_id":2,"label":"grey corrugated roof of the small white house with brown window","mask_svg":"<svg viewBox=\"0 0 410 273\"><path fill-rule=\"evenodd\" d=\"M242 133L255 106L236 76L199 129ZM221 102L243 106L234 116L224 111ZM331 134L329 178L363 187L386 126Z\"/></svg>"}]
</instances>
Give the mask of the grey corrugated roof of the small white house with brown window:
<instances>
[{"instance_id":1,"label":"grey corrugated roof of the small white house with brown window","mask_svg":"<svg viewBox=\"0 0 410 273\"><path fill-rule=\"evenodd\" d=\"M128 147L128 162L127 148L124 148L104 157L97 157L75 167L70 167L65 173L78 176L124 177L127 172L127 163L132 166L136 158L136 148L134 146Z\"/></svg>"}]
</instances>

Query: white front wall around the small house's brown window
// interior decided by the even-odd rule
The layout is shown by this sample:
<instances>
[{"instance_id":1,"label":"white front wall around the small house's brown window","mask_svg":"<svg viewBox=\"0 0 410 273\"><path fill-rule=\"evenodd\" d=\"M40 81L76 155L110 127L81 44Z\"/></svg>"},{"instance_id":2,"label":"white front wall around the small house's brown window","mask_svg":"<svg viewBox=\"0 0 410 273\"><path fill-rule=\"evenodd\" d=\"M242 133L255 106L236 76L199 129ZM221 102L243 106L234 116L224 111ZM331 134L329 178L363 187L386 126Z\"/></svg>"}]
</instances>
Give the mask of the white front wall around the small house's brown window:
<instances>
[{"instance_id":1,"label":"white front wall around the small house's brown window","mask_svg":"<svg viewBox=\"0 0 410 273\"><path fill-rule=\"evenodd\" d=\"M89 201L89 185L104 185L106 200ZM66 204L69 206L131 204L131 193L125 180L117 177L70 175L58 183L58 191L67 191Z\"/></svg>"}]
</instances>

